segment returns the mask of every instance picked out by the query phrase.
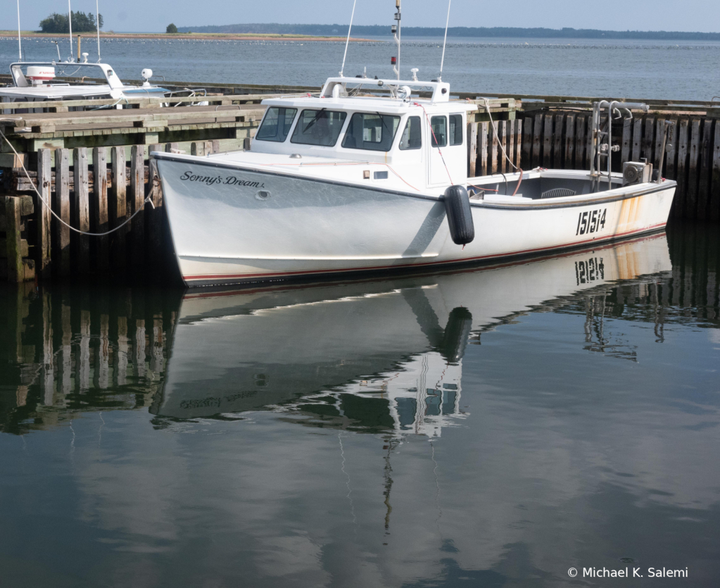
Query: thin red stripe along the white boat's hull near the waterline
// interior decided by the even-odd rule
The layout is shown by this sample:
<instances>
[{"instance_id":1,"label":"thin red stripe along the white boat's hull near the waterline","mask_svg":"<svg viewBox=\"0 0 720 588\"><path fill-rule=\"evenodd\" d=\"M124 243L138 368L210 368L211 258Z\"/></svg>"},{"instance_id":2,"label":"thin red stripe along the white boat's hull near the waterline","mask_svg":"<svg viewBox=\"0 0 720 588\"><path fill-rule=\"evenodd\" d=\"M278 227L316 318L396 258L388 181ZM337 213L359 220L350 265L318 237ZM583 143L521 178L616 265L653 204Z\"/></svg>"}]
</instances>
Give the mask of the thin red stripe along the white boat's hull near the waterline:
<instances>
[{"instance_id":1,"label":"thin red stripe along the white boat's hull near the waterline","mask_svg":"<svg viewBox=\"0 0 720 588\"><path fill-rule=\"evenodd\" d=\"M287 277L287 276L298 276L298 275L312 275L312 274L333 274L339 272L367 272L374 269L407 269L408 267L426 267L431 265L442 265L449 263L464 263L480 261L481 259L499 259L501 257L510 257L514 255L526 255L532 253L539 253L541 251L552 251L552 249L565 249L566 247L575 247L579 245L585 245L588 243L602 243L608 239L619 239L630 235L636 235L638 233L645 233L647 231L653 231L657 228L662 228L667 223L658 223L649 227L641 228L636 231L626 231L625 233L615 233L609 235L603 239L585 239L583 241L573 241L563 245L554 245L552 247L538 247L536 249L523 249L521 251L510 251L503 254L490 254L490 255L477 255L476 257L463 257L461 259L447 259L443 262L424 262L414 264L402 264L402 265L374 265L365 267L342 267L339 269L305 269L297 272L269 272L269 273L257 273L257 274L199 274L199 275L187 275L183 276L186 281L195 280L253 280L258 278L268 277Z\"/></svg>"}]
</instances>

